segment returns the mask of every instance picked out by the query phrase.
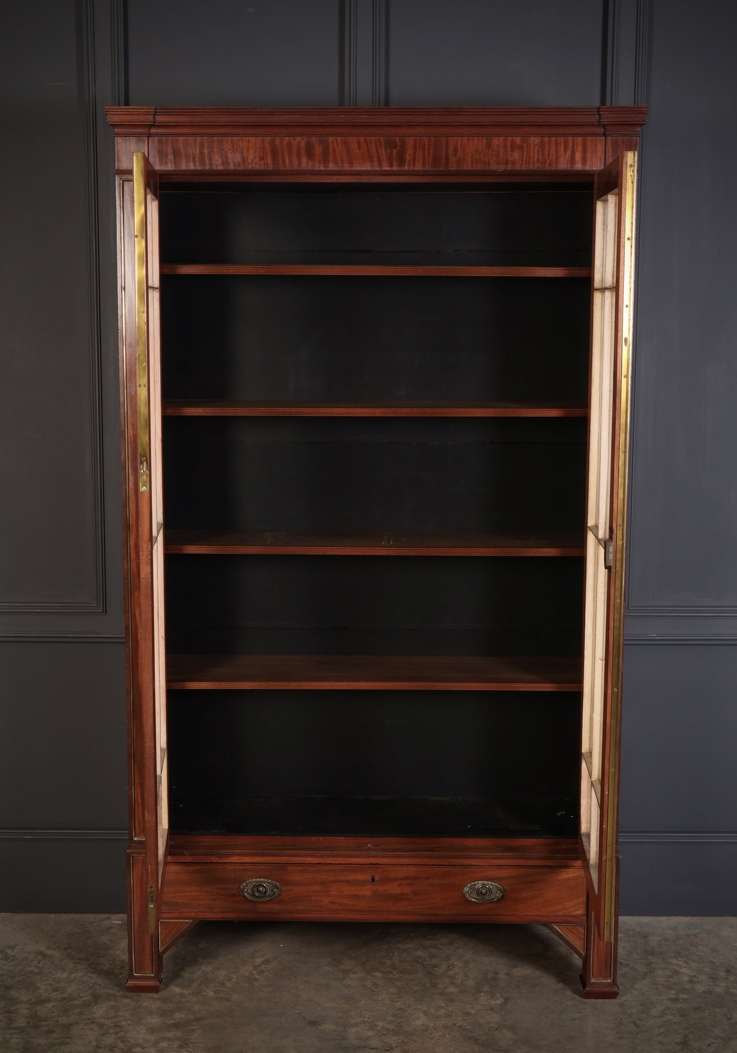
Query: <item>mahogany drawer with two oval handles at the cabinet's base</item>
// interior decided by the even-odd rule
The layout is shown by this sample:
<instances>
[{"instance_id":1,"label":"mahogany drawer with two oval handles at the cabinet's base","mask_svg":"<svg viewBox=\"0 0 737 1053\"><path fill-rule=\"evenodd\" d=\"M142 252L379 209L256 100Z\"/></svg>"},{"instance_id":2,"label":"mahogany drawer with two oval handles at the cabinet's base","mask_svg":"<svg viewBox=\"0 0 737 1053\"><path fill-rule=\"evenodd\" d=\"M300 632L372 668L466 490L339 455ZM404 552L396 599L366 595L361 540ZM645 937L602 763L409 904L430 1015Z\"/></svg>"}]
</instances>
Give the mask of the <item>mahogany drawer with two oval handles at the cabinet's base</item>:
<instances>
[{"instance_id":1,"label":"mahogany drawer with two oval handles at the cabinet's base","mask_svg":"<svg viewBox=\"0 0 737 1053\"><path fill-rule=\"evenodd\" d=\"M266 879L252 901L239 888ZM501 886L493 902L470 901L474 881ZM246 891L251 891L246 888ZM252 892L252 894L254 894ZM492 895L498 894L497 890ZM162 917L314 918L315 920L553 921L582 920L585 882L579 867L179 862L170 859Z\"/></svg>"}]
</instances>

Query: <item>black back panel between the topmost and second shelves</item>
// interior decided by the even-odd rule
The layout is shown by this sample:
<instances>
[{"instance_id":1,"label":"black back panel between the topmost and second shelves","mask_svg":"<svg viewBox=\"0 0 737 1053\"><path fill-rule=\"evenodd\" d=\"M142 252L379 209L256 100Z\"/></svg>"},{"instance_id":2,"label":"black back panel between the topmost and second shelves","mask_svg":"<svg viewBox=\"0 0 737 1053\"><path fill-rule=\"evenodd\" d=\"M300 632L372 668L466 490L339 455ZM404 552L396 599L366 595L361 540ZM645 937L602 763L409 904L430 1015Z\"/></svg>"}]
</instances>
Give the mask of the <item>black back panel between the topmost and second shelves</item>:
<instances>
[{"instance_id":1,"label":"black back panel between the topmost and second shelves","mask_svg":"<svg viewBox=\"0 0 737 1053\"><path fill-rule=\"evenodd\" d=\"M585 278L163 276L164 398L585 404Z\"/></svg>"}]
</instances>

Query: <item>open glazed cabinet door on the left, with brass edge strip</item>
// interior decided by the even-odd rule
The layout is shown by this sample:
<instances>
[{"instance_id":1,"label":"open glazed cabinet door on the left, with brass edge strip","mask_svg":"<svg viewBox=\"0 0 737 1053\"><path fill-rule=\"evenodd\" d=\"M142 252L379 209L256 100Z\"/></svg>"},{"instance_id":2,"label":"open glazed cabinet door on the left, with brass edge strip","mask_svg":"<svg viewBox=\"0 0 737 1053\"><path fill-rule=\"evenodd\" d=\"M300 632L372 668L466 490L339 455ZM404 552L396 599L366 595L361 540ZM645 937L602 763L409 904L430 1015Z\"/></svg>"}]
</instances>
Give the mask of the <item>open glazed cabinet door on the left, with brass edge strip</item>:
<instances>
[{"instance_id":1,"label":"open glazed cabinet door on the left, with brass edge strip","mask_svg":"<svg viewBox=\"0 0 737 1053\"><path fill-rule=\"evenodd\" d=\"M158 176L142 153L119 180L132 976L158 973L168 848Z\"/></svg>"}]
</instances>

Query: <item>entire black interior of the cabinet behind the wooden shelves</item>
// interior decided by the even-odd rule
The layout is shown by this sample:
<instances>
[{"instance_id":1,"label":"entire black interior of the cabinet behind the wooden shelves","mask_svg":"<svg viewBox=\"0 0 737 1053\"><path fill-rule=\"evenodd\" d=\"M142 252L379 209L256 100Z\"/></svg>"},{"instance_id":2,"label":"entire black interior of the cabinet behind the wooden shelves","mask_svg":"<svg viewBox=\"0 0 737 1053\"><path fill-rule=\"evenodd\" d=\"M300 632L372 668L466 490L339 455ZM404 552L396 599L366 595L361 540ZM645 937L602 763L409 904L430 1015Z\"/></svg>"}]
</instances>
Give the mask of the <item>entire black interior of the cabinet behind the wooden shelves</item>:
<instances>
[{"instance_id":1,"label":"entire black interior of the cabinet behind the wooden shelves","mask_svg":"<svg viewBox=\"0 0 737 1053\"><path fill-rule=\"evenodd\" d=\"M159 215L168 651L579 657L592 186L177 186ZM198 264L346 270L166 273ZM483 265L584 273L450 271ZM206 411L239 401L393 415ZM575 836L579 695L431 689L171 691L171 831Z\"/></svg>"}]
</instances>

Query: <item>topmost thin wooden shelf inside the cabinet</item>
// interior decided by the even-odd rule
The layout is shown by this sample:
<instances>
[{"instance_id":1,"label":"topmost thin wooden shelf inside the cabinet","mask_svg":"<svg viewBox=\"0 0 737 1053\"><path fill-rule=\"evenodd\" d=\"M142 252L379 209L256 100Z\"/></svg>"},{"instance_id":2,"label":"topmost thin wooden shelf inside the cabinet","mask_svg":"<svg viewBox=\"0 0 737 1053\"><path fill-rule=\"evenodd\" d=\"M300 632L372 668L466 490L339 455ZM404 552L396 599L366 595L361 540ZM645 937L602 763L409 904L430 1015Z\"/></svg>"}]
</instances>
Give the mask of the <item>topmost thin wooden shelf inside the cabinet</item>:
<instances>
[{"instance_id":1,"label":"topmost thin wooden shelf inside the cabinet","mask_svg":"<svg viewBox=\"0 0 737 1053\"><path fill-rule=\"evenodd\" d=\"M587 266L463 266L373 263L163 263L161 274L306 275L396 278L590 278Z\"/></svg>"}]
</instances>

